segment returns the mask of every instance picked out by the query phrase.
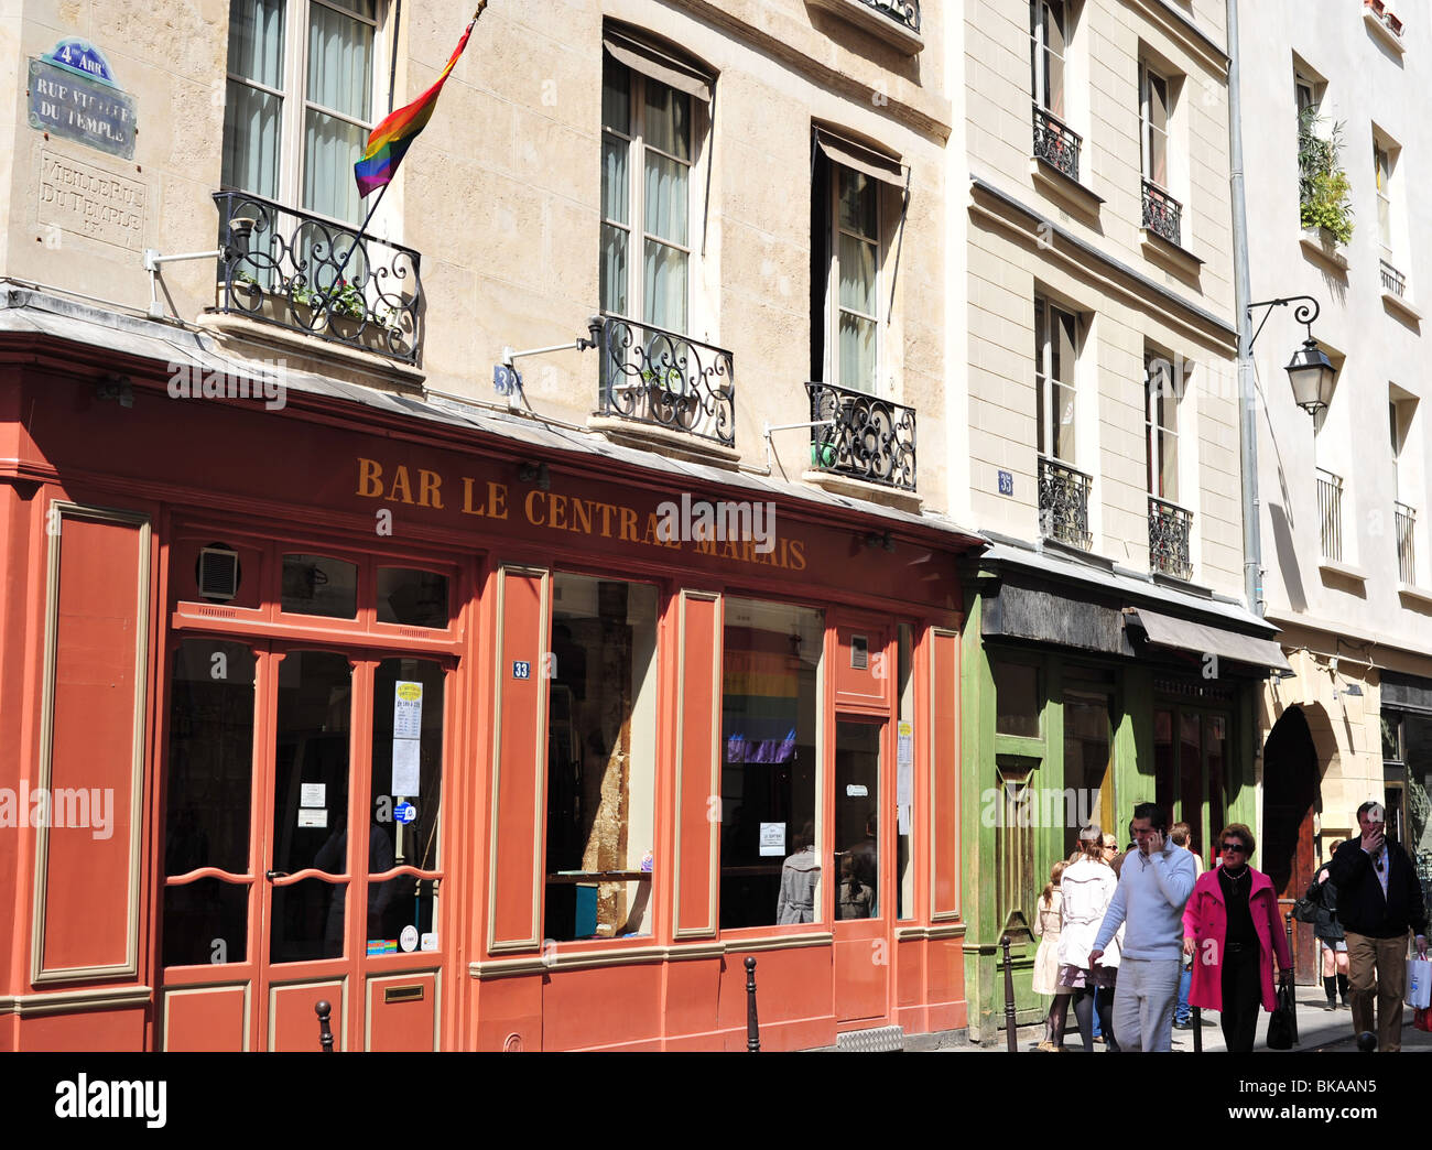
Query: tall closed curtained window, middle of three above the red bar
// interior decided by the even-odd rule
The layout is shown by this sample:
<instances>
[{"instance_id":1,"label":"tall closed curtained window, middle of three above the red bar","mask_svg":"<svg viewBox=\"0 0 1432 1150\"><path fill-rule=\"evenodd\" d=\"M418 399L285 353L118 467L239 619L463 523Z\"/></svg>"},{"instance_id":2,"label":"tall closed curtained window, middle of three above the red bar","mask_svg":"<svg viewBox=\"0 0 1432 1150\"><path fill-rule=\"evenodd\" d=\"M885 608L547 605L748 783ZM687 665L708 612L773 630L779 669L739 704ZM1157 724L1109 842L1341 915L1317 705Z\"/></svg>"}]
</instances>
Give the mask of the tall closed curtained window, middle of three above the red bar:
<instances>
[{"instance_id":1,"label":"tall closed curtained window, middle of three above the red bar","mask_svg":"<svg viewBox=\"0 0 1432 1150\"><path fill-rule=\"evenodd\" d=\"M607 57L601 311L680 335L690 306L692 97Z\"/></svg>"}]
</instances>

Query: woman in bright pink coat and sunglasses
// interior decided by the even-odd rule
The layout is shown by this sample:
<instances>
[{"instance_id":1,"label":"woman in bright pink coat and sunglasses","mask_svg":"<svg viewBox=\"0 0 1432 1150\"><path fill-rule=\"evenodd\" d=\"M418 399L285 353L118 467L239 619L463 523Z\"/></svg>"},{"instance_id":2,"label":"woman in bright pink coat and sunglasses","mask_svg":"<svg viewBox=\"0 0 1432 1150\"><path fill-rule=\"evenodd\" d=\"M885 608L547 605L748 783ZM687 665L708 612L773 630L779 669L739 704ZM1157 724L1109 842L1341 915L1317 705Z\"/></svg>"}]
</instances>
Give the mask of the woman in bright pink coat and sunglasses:
<instances>
[{"instance_id":1,"label":"woman in bright pink coat and sunglasses","mask_svg":"<svg viewBox=\"0 0 1432 1150\"><path fill-rule=\"evenodd\" d=\"M1293 957L1277 917L1277 892L1249 865L1253 832L1236 822L1219 835L1219 865L1193 885L1183 912L1183 950L1193 955L1189 1004L1221 1014L1230 1051L1253 1050L1257 1008L1277 1007L1273 955L1282 978L1292 978Z\"/></svg>"}]
</instances>

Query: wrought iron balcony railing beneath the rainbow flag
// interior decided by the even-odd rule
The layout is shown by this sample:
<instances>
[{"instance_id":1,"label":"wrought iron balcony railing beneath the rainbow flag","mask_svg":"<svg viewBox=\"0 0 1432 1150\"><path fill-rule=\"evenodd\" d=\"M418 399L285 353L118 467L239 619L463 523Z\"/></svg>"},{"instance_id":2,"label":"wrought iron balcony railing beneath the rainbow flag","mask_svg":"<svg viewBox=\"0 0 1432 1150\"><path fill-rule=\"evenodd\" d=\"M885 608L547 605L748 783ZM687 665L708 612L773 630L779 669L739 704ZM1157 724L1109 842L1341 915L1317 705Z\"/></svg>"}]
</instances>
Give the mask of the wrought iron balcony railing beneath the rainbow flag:
<instances>
[{"instance_id":1,"label":"wrought iron balcony railing beneath the rainbow flag","mask_svg":"<svg viewBox=\"0 0 1432 1150\"><path fill-rule=\"evenodd\" d=\"M218 311L415 364L420 256L246 192L215 192Z\"/></svg>"}]
</instances>

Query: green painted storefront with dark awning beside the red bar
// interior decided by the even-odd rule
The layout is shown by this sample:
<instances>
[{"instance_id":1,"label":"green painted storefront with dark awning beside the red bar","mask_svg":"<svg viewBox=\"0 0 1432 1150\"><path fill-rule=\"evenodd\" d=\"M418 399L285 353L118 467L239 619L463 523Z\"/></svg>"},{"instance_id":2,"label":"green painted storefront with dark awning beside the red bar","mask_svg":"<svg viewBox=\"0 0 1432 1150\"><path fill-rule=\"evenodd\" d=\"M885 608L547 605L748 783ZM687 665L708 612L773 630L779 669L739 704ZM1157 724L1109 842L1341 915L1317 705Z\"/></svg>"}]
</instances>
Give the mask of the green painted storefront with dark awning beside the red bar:
<instances>
[{"instance_id":1,"label":"green painted storefront with dark awning beside the red bar","mask_svg":"<svg viewBox=\"0 0 1432 1150\"><path fill-rule=\"evenodd\" d=\"M965 581L961 839L975 846L964 852L965 992L969 1035L982 1043L1004 1025L1004 934L1018 1021L1048 1010L1031 991L1030 924L1083 822L1123 846L1134 803L1156 801L1170 822L1190 823L1204 859L1227 822L1254 825L1254 705L1267 665L1141 642L1137 613L1171 612L1224 652L1280 659L1273 629L1230 600L1111 567L1061 577L1070 561L1020 559L987 554Z\"/></svg>"}]
</instances>

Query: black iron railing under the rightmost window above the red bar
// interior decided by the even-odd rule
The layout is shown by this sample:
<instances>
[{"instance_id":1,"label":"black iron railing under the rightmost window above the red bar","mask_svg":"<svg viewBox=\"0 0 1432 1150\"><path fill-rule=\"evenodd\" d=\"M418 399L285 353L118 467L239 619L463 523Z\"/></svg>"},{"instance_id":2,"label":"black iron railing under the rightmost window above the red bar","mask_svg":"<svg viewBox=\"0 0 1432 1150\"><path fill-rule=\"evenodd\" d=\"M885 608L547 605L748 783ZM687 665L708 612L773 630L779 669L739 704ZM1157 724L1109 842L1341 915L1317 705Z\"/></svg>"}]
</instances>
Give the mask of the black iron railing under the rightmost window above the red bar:
<instances>
[{"instance_id":1,"label":"black iron railing under the rightmost window above the red bar","mask_svg":"<svg viewBox=\"0 0 1432 1150\"><path fill-rule=\"evenodd\" d=\"M915 408L835 384L806 384L811 465L818 471L915 490Z\"/></svg>"}]
</instances>

